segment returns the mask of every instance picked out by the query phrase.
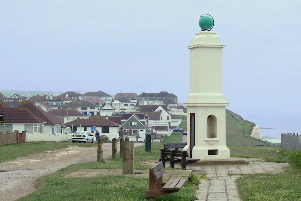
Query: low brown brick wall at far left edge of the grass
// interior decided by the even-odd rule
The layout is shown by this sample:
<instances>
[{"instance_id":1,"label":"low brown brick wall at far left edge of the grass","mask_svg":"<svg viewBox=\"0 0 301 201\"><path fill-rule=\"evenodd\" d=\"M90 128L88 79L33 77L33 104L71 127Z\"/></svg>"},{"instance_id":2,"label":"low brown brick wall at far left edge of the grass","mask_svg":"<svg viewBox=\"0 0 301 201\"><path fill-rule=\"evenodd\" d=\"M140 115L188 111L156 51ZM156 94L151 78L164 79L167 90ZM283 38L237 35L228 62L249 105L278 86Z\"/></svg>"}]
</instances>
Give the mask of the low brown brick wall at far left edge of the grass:
<instances>
[{"instance_id":1,"label":"low brown brick wall at far left edge of the grass","mask_svg":"<svg viewBox=\"0 0 301 201\"><path fill-rule=\"evenodd\" d=\"M14 132L0 132L0 145L14 144L14 143L25 143L26 131L19 133L18 130Z\"/></svg>"}]
</instances>

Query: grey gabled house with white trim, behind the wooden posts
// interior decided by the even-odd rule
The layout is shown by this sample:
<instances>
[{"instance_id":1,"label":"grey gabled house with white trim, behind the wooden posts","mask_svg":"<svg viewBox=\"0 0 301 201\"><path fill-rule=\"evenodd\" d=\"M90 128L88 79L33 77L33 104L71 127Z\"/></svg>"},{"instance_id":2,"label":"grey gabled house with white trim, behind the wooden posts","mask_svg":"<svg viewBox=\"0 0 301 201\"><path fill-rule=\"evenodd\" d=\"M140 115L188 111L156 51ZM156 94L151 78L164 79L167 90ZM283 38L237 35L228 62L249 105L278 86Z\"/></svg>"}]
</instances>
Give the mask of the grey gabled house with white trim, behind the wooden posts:
<instances>
[{"instance_id":1,"label":"grey gabled house with white trim, behind the wooden posts","mask_svg":"<svg viewBox=\"0 0 301 201\"><path fill-rule=\"evenodd\" d=\"M146 121L141 121L136 114L131 114L131 117L126 120L121 120L121 129L124 134L127 133L130 140L145 141L145 133L147 131Z\"/></svg>"}]
</instances>

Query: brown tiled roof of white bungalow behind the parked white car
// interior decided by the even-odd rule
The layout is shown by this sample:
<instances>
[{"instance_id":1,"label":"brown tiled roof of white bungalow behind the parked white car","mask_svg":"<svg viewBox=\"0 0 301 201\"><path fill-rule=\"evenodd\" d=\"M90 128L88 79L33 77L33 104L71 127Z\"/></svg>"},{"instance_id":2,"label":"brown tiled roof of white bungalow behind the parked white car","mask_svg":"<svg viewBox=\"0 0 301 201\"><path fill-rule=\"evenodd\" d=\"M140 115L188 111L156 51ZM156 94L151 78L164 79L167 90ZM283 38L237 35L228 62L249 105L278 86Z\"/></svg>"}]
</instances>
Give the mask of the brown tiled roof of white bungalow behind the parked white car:
<instances>
[{"instance_id":1,"label":"brown tiled roof of white bungalow behind the parked white car","mask_svg":"<svg viewBox=\"0 0 301 201\"><path fill-rule=\"evenodd\" d=\"M66 123L66 126L116 126L117 123L107 119L76 119ZM120 126L120 124L117 124Z\"/></svg>"}]
</instances>

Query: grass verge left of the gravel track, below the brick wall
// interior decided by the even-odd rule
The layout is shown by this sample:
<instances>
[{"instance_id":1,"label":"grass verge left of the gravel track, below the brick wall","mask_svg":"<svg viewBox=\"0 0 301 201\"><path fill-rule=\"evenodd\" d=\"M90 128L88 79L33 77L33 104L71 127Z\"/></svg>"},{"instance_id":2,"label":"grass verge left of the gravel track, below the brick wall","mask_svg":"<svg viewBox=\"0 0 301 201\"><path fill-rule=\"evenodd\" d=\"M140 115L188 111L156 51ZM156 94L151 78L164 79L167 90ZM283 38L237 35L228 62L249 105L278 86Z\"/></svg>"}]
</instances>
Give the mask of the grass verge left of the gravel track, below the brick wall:
<instances>
[{"instance_id":1,"label":"grass verge left of the gravel track, below the brick wall","mask_svg":"<svg viewBox=\"0 0 301 201\"><path fill-rule=\"evenodd\" d=\"M97 143L72 143L71 140L69 140L68 142L27 142L7 144L0 146L0 162L11 161L17 157L62 149L68 146L97 146Z\"/></svg>"}]
</instances>

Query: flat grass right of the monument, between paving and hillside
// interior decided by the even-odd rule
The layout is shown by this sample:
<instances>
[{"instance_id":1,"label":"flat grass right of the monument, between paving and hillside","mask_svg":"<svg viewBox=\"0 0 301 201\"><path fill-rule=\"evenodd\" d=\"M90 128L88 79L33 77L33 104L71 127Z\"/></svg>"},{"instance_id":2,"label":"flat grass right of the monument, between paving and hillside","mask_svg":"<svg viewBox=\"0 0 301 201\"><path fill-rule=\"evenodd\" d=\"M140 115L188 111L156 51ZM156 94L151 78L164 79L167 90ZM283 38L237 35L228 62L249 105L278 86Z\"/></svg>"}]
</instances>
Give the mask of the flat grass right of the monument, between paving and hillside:
<instances>
[{"instance_id":1,"label":"flat grass right of the monument, between paving and hillside","mask_svg":"<svg viewBox=\"0 0 301 201\"><path fill-rule=\"evenodd\" d=\"M258 158L268 162L290 162L278 146L228 146L231 157ZM276 152L279 150L280 152Z\"/></svg>"}]
</instances>

